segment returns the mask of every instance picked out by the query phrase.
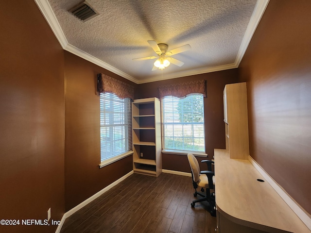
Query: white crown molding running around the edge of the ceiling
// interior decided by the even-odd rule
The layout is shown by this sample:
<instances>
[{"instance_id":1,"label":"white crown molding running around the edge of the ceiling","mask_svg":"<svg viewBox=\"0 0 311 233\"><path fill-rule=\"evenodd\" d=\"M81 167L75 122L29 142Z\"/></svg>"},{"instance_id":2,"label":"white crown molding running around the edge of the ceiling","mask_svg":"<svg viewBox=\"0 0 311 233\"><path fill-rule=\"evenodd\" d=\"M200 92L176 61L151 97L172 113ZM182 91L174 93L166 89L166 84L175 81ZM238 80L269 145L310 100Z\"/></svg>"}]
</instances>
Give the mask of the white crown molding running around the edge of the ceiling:
<instances>
[{"instance_id":1,"label":"white crown molding running around the edge of the ceiling","mask_svg":"<svg viewBox=\"0 0 311 233\"><path fill-rule=\"evenodd\" d=\"M255 30L259 24L259 21L269 3L269 0L258 0L253 12L253 15L250 19L250 22L247 26L246 32L244 34L244 37L242 39L242 44L240 46L238 55L236 57L235 63L233 64L228 64L228 65L223 65L223 66L218 66L218 67L207 67L207 68L200 68L200 69L192 69L188 71L180 71L180 72L175 72L173 74L167 74L164 76L160 75L155 75L153 77L150 77L148 79L143 79L143 80L138 80L121 70L110 66L107 63L104 63L100 59L86 53L83 50L78 49L77 47L71 45L68 43L65 34L63 33L57 18L55 14L52 11L51 5L49 4L48 0L35 0L35 3L37 4L38 8L40 9L42 15L45 17L46 21L48 22L49 26L52 29L52 32L56 36L57 40L59 41L60 45L64 50L67 50L83 59L86 61L89 61L99 67L103 67L117 75L120 75L121 77L128 79L132 81L133 83L136 84L141 84L141 83L151 83L155 81L161 81L161 80L167 80L167 79L174 79L174 78L180 78L180 77L186 77L186 76L191 76L191 75L197 75L197 74L203 74L203 73L209 73L209 72L215 72L215 71L221 71L225 69L232 69L232 68L237 68L240 65L240 62L242 61L242 58L244 56L244 53L252 39L253 34L255 33Z\"/></svg>"}]
</instances>

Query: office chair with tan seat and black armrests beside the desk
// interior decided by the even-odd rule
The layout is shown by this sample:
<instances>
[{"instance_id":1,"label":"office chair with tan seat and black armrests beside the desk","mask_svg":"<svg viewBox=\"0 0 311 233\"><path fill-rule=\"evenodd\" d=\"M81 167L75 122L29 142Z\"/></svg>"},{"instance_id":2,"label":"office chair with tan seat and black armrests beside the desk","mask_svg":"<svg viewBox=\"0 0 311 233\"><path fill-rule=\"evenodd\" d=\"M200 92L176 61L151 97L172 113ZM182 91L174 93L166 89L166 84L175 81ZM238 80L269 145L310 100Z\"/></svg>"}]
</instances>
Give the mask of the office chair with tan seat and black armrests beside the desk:
<instances>
[{"instance_id":1,"label":"office chair with tan seat and black armrests beside the desk","mask_svg":"<svg viewBox=\"0 0 311 233\"><path fill-rule=\"evenodd\" d=\"M211 171L211 165L214 162L210 160L201 161L201 162L207 163L207 167L209 170L200 171L199 163L197 159L194 157L194 155L189 153L187 157L188 157L188 161L191 167L192 184L193 184L193 188L195 189L193 196L197 197L197 195L199 195L202 197L201 199L193 200L191 203L191 207L194 207L196 202L207 200L211 208L210 210L211 216L216 216L216 211L214 208L215 207L215 196L214 196L215 193L210 193L210 189L214 190L214 186L215 186L215 173ZM203 195L202 193L197 192L196 189L198 187L202 187L203 191L205 188L206 195Z\"/></svg>"}]
</instances>

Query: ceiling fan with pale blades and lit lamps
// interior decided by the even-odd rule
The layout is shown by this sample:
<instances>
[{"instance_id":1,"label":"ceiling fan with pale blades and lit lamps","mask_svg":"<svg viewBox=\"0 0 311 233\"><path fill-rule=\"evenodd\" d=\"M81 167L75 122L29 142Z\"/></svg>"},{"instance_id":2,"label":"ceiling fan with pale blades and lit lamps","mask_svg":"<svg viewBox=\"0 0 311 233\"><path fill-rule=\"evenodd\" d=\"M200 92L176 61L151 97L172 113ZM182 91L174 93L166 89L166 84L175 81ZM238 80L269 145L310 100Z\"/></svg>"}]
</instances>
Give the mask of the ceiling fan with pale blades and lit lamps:
<instances>
[{"instance_id":1,"label":"ceiling fan with pale blades and lit lamps","mask_svg":"<svg viewBox=\"0 0 311 233\"><path fill-rule=\"evenodd\" d=\"M191 49L190 45L187 44L187 45L183 45L181 47L168 51L169 46L167 44L157 44L154 40L148 40L148 43L152 47L152 49L155 51L157 56L134 58L132 60L141 61L141 60L157 58L152 70L156 70L157 68L164 69L165 67L168 67L171 63L178 67L181 67L185 63L171 56Z\"/></svg>"}]
</instances>

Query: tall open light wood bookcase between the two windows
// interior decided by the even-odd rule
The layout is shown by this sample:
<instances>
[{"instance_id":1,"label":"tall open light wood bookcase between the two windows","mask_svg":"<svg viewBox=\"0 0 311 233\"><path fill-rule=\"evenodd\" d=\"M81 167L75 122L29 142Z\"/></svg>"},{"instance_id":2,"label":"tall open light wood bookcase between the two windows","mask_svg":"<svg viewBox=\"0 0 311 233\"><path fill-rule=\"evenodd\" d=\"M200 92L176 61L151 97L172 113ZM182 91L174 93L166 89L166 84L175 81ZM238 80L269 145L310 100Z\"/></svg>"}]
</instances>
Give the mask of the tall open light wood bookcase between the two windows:
<instances>
[{"instance_id":1,"label":"tall open light wood bookcase between the two windows","mask_svg":"<svg viewBox=\"0 0 311 233\"><path fill-rule=\"evenodd\" d=\"M160 100L134 100L132 117L133 170L157 177L162 172Z\"/></svg>"}]
</instances>

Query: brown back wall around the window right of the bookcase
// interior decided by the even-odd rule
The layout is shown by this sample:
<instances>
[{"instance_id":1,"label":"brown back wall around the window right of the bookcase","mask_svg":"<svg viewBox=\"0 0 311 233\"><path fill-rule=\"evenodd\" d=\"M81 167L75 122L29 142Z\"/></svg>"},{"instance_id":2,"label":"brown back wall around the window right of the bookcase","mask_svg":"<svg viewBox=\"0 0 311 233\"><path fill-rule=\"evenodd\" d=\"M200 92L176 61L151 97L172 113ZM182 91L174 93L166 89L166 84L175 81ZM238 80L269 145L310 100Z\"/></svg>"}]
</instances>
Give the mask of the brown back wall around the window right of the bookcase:
<instances>
[{"instance_id":1,"label":"brown back wall around the window right of the bookcase","mask_svg":"<svg viewBox=\"0 0 311 233\"><path fill-rule=\"evenodd\" d=\"M139 84L138 98L158 98L157 87L160 85L184 83L202 79L207 80L207 98L204 99L205 145L208 158L213 158L214 148L225 149L223 91L225 84L237 83L238 69ZM198 157L198 159L202 160L203 158ZM190 172L190 166L186 155L162 154L162 167L163 169Z\"/></svg>"}]
</instances>

